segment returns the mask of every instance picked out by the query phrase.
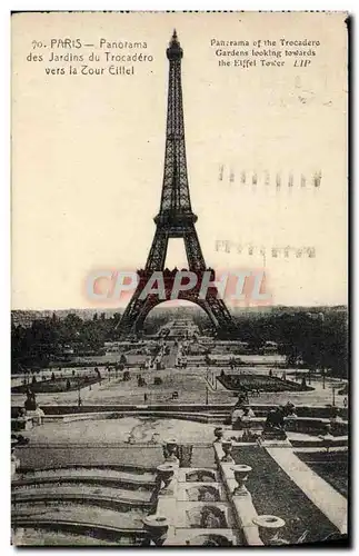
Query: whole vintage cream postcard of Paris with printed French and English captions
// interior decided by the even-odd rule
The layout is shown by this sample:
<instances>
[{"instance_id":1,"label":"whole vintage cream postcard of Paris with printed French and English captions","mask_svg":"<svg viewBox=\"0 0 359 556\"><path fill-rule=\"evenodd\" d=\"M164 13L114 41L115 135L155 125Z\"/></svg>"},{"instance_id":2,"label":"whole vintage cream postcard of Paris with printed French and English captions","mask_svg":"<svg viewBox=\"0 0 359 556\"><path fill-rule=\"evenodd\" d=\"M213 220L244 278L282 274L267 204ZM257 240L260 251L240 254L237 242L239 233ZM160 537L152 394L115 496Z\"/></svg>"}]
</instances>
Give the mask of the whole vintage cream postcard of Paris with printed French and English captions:
<instances>
[{"instance_id":1,"label":"whole vintage cream postcard of Paris with printed French and English captions","mask_svg":"<svg viewBox=\"0 0 359 556\"><path fill-rule=\"evenodd\" d=\"M348 13L11 28L12 544L348 543Z\"/></svg>"}]
</instances>

